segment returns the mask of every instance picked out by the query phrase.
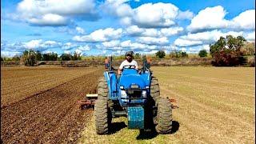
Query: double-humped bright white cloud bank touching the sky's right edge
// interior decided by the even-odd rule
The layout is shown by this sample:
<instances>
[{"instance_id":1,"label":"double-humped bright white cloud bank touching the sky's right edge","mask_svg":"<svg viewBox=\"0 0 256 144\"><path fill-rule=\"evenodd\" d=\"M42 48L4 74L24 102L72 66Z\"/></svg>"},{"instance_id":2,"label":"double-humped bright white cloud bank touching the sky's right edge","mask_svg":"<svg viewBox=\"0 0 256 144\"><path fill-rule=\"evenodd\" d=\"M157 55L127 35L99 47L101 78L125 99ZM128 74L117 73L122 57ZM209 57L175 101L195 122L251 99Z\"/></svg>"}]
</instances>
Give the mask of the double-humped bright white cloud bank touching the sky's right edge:
<instances>
[{"instance_id":1,"label":"double-humped bright white cloud bank touching the sky's right edge","mask_svg":"<svg viewBox=\"0 0 256 144\"><path fill-rule=\"evenodd\" d=\"M187 30L193 33L206 30L254 30L255 10L246 10L237 17L226 20L227 12L222 6L207 7L192 18Z\"/></svg>"}]
</instances>

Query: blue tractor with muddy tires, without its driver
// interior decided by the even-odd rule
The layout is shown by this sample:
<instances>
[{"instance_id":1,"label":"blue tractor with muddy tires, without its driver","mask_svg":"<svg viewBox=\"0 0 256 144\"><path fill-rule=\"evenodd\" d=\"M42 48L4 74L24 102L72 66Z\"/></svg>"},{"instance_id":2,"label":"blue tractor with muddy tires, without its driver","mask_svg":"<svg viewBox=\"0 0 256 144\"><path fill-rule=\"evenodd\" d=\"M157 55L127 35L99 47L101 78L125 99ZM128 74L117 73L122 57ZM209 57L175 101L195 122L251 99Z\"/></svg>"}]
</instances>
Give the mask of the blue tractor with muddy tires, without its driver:
<instances>
[{"instance_id":1,"label":"blue tractor with muddy tires, without its driver","mask_svg":"<svg viewBox=\"0 0 256 144\"><path fill-rule=\"evenodd\" d=\"M98 99L94 105L97 134L108 134L112 118L125 116L129 129L156 130L168 134L172 129L172 108L167 98L160 97L158 79L143 56L142 70L124 66L117 77L110 57L109 70L98 81Z\"/></svg>"}]
</instances>

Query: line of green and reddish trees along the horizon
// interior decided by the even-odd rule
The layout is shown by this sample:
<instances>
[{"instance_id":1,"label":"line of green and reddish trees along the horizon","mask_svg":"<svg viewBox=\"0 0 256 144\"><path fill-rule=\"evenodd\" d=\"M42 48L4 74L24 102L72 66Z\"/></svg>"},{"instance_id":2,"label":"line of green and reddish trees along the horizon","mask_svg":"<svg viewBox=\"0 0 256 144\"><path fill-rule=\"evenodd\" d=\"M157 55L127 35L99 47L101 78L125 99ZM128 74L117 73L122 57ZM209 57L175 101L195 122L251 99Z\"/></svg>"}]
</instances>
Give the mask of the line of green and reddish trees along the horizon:
<instances>
[{"instance_id":1,"label":"line of green and reddish trees along the horizon","mask_svg":"<svg viewBox=\"0 0 256 144\"><path fill-rule=\"evenodd\" d=\"M164 50L158 50L152 57L154 58L188 58L189 55L182 50L174 50L166 55ZM246 42L242 36L234 37L227 35L226 38L220 37L217 42L210 44L210 54L207 50L200 50L198 57L212 57L213 66L239 66L246 62L247 56L255 56L255 43ZM89 56L90 60L101 59L104 57ZM88 59L87 58L87 59ZM123 55L114 56L114 59L123 59ZM142 58L142 54L134 54L135 59ZM2 58L1 61L22 61L26 66L34 66L38 61L70 61L81 60L81 54L74 52L73 54L61 54L58 56L56 53L42 54L40 51L25 50L22 56L14 56L13 58ZM255 62L254 62L255 63Z\"/></svg>"}]
</instances>

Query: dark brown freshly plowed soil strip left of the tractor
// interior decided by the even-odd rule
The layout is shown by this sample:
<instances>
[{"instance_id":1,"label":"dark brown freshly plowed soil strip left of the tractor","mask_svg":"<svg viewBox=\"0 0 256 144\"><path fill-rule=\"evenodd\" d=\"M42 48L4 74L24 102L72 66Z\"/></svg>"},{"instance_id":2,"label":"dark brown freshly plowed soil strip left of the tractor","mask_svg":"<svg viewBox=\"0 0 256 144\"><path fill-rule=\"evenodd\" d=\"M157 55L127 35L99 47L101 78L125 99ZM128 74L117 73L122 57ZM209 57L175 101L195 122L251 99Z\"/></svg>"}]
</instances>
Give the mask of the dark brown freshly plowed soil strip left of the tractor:
<instances>
[{"instance_id":1,"label":"dark brown freshly plowed soil strip left of the tractor","mask_svg":"<svg viewBox=\"0 0 256 144\"><path fill-rule=\"evenodd\" d=\"M53 89L2 108L3 143L75 143L93 110L80 110L76 102L95 93L102 70L75 78Z\"/></svg>"}]
</instances>

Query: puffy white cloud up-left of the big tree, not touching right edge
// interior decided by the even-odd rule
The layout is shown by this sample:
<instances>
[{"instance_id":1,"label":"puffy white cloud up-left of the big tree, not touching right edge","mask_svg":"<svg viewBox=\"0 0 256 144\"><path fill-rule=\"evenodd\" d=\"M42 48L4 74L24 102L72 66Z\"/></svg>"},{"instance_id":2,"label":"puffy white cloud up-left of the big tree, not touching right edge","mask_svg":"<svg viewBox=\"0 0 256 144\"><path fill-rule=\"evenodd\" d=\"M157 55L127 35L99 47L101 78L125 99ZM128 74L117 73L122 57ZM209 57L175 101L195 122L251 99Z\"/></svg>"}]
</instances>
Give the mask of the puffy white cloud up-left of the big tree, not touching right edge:
<instances>
[{"instance_id":1,"label":"puffy white cloud up-left of the big tree, not touching right edge","mask_svg":"<svg viewBox=\"0 0 256 144\"><path fill-rule=\"evenodd\" d=\"M222 6L207 7L199 11L187 26L187 29L194 32L200 30L221 29L229 26L229 22L224 19L226 11Z\"/></svg>"}]
</instances>

